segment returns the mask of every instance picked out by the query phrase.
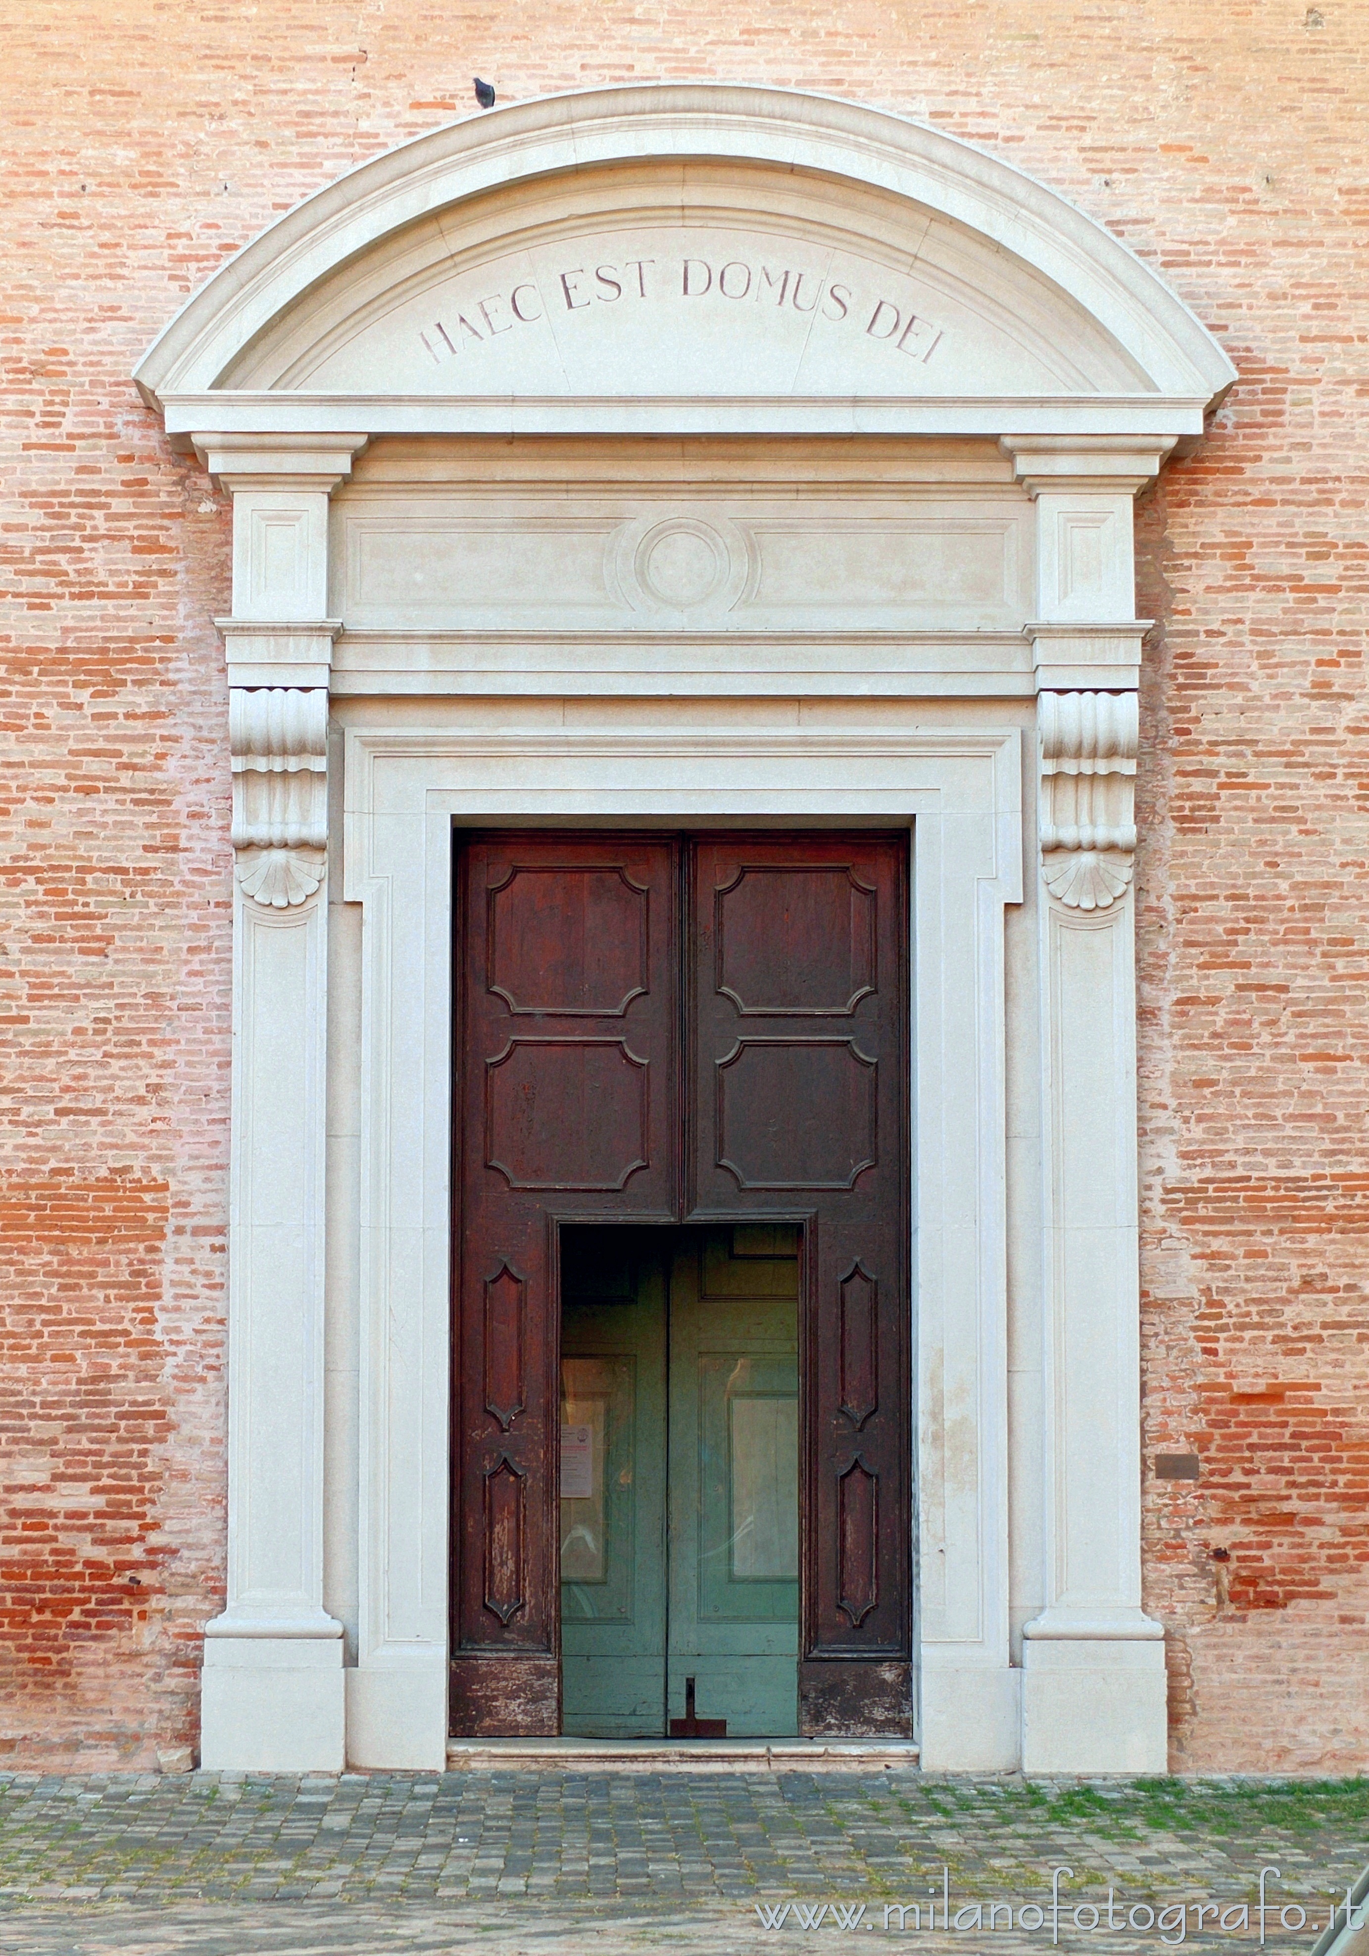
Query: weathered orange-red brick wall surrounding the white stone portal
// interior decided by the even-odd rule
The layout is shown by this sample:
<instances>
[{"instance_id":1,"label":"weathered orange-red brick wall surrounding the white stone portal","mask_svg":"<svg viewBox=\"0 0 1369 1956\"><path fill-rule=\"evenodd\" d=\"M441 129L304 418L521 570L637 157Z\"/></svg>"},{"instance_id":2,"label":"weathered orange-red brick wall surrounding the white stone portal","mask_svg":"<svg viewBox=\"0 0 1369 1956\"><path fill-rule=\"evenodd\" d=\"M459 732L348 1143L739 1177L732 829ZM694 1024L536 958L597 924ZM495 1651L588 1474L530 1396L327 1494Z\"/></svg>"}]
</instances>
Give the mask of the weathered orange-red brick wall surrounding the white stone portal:
<instances>
[{"instance_id":1,"label":"weathered orange-red brick wall surrounding the white stone portal","mask_svg":"<svg viewBox=\"0 0 1369 1956\"><path fill-rule=\"evenodd\" d=\"M927 119L1109 225L1240 366L1140 507L1146 1457L1203 1461L1146 1481L1148 1606L1177 1766L1365 1762L1367 29L1363 0L10 8L0 1756L184 1756L223 1582L229 516L127 376L481 72Z\"/></svg>"}]
</instances>

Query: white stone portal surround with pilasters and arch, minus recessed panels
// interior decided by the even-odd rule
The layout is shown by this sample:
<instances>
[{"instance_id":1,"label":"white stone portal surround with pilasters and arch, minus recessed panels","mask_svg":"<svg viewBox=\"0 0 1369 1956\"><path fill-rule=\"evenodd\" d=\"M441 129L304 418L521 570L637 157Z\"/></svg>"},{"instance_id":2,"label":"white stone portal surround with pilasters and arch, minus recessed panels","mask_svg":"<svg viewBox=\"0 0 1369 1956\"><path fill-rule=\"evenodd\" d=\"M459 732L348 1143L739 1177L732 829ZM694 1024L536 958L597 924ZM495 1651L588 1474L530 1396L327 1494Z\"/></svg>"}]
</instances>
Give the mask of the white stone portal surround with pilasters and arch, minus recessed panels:
<instances>
[{"instance_id":1,"label":"white stone portal surround with pilasters and arch, minus recessed panels","mask_svg":"<svg viewBox=\"0 0 1369 1956\"><path fill-rule=\"evenodd\" d=\"M1013 264L1054 280L1148 383L458 399L233 381L235 362L282 321L315 319L344 268L364 278L366 250L424 211L520 176L692 155L947 213L990 241L1009 297ZM1162 1629L1140 1608L1132 499L1232 379L1154 274L1007 166L849 104L686 86L526 104L407 145L264 233L149 352L145 397L235 507L219 620L237 851L229 1594L205 1633L205 1764L444 1764L454 823L870 820L913 829L923 1760L1164 1770ZM798 667L786 704L786 675L757 663L745 716L731 673L726 692L684 689L688 716L667 730L593 692L561 728L536 714L467 728L450 687L338 669L331 497L372 438L861 430L992 438L1031 503L1019 653L994 665L974 632L941 634L960 677L921 687L941 702L925 724L909 718L917 647L898 710L890 685L804 702ZM645 669L634 690L649 706ZM1037 968L1009 1017L1005 906L1023 902ZM1009 1134L1009 1060L1035 1074L1035 1134ZM1038 1426L1031 1471L1009 1422L1009 1267L1040 1299L1040 1406L1015 1412L1019 1434ZM360 1299L354 1399L336 1348L344 1291ZM352 1416L342 1485L329 1432ZM1040 1567L1017 1647L1009 1520ZM327 1608L327 1545L344 1537L354 1649Z\"/></svg>"}]
</instances>

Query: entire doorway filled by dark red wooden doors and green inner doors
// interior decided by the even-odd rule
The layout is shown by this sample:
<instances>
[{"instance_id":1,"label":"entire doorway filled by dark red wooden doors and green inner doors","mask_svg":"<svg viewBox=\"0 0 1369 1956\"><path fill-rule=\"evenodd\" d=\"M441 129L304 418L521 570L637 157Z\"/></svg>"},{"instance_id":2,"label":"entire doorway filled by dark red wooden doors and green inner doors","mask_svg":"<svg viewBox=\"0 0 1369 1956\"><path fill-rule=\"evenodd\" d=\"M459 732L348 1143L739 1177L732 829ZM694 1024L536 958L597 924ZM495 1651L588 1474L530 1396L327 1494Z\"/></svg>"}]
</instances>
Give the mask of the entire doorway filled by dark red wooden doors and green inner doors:
<instances>
[{"instance_id":1,"label":"entire doorway filled by dark red wooden doors and green inner doors","mask_svg":"<svg viewBox=\"0 0 1369 1956\"><path fill-rule=\"evenodd\" d=\"M622 1713L643 1737L907 1737L907 833L479 833L454 915L454 1735L589 1737ZM630 1240L641 1344L595 1348L608 1318L581 1311L606 1309ZM741 1287L714 1297L724 1266ZM757 1330L731 1365L784 1357L784 1391L728 1389L743 1309L776 1348ZM630 1485L659 1492L618 1522L659 1600L634 1588L634 1631L602 1614L628 1610L596 1575L614 1514L557 1477L561 1336L589 1406L563 1422L571 1487L589 1449L593 1489L589 1402L626 1391L573 1361L638 1379ZM728 1467L702 1487L708 1447ZM765 1483L782 1447L786 1506ZM591 1504L565 1528L563 1496ZM563 1692L571 1625L587 1663ZM618 1659L645 1667L624 1702Z\"/></svg>"}]
</instances>

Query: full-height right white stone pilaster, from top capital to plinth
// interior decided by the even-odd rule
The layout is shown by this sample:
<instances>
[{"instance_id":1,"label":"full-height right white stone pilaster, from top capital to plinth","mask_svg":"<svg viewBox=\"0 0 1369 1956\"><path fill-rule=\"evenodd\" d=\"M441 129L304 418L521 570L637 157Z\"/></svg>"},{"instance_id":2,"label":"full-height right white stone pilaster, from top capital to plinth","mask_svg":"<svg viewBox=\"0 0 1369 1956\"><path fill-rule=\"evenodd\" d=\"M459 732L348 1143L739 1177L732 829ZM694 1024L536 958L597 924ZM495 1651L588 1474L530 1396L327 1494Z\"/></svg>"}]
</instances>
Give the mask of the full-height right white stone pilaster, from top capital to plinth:
<instances>
[{"instance_id":1,"label":"full-height right white stone pilaster, from top capital to plinth","mask_svg":"<svg viewBox=\"0 0 1369 1956\"><path fill-rule=\"evenodd\" d=\"M1162 1625L1140 1608L1136 618L1156 436L1005 436L1037 507L1044 1610L1023 1770L1164 1772Z\"/></svg>"}]
</instances>

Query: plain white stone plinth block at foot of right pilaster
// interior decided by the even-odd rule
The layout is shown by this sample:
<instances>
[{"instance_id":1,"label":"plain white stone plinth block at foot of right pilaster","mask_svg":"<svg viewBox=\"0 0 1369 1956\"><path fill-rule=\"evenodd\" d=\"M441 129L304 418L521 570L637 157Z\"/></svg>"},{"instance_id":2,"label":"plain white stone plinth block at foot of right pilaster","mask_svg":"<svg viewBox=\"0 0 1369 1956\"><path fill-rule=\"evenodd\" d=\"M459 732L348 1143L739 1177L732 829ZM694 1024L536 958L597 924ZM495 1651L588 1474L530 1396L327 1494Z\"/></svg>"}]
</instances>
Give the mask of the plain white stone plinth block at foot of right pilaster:
<instances>
[{"instance_id":1,"label":"plain white stone plinth block at foot of right pilaster","mask_svg":"<svg viewBox=\"0 0 1369 1956\"><path fill-rule=\"evenodd\" d=\"M1166 1772L1164 1643L1025 1637L1023 1772Z\"/></svg>"}]
</instances>

